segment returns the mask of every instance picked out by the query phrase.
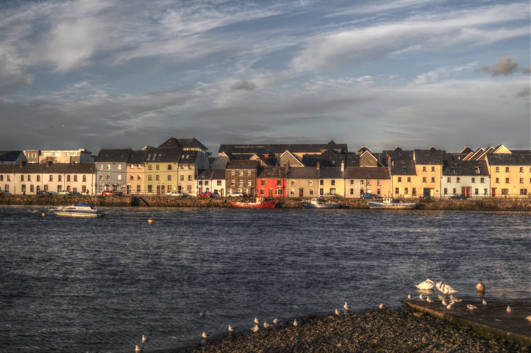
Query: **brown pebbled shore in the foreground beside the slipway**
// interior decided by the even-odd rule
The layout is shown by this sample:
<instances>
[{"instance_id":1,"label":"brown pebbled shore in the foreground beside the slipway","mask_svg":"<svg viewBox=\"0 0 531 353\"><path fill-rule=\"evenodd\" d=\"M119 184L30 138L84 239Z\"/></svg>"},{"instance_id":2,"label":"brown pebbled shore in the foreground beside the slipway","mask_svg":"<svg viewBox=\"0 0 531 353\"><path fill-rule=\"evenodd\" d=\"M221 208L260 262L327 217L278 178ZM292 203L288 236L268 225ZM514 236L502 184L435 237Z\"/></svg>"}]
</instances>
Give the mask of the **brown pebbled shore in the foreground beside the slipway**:
<instances>
[{"instance_id":1,"label":"brown pebbled shore in the foreground beside the slipway","mask_svg":"<svg viewBox=\"0 0 531 353\"><path fill-rule=\"evenodd\" d=\"M252 327L250 320L249 329ZM238 327L239 329L239 327ZM243 329L243 328L242 328ZM404 310L309 317L298 327L244 332L203 342L190 353L221 352L526 352L448 321Z\"/></svg>"}]
</instances>

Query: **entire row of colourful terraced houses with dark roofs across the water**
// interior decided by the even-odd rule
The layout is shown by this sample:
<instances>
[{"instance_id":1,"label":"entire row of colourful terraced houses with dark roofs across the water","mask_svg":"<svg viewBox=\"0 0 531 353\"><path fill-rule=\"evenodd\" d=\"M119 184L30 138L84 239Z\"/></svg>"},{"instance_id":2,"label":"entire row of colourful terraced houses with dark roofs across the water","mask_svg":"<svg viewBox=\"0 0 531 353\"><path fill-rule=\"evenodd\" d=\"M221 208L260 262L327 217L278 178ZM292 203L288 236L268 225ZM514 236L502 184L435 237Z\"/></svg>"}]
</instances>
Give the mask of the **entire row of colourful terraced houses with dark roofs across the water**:
<instances>
[{"instance_id":1,"label":"entire row of colourful terraced houses with dark roofs across the water","mask_svg":"<svg viewBox=\"0 0 531 353\"><path fill-rule=\"evenodd\" d=\"M0 190L105 190L124 194L192 195L242 192L258 197L319 197L335 194L382 197L522 197L531 191L531 150L503 145L463 148L430 146L373 153L349 152L346 144L220 145L212 157L195 138L169 138L158 147L62 151L0 151Z\"/></svg>"}]
</instances>

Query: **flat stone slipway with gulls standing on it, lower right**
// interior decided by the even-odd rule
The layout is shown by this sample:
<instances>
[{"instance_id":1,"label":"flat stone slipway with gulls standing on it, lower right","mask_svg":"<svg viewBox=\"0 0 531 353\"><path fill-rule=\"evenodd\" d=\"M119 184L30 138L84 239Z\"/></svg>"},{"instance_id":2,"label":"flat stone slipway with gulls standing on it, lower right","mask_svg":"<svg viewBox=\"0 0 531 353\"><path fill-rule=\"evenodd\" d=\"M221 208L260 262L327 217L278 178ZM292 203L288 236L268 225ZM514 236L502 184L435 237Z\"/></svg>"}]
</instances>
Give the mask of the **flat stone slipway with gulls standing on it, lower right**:
<instances>
[{"instance_id":1,"label":"flat stone slipway with gulls standing on it, lower right","mask_svg":"<svg viewBox=\"0 0 531 353\"><path fill-rule=\"evenodd\" d=\"M414 310L459 325L470 325L477 332L531 346L531 325L527 324L526 319L531 315L531 301L489 301L487 306L483 307L479 300L463 300L453 305L450 310L443 307L440 300L434 300L431 304L420 300L402 300L402 302ZM470 313L466 307L468 304L477 306L477 309ZM511 315L506 311L508 305L512 309Z\"/></svg>"}]
</instances>

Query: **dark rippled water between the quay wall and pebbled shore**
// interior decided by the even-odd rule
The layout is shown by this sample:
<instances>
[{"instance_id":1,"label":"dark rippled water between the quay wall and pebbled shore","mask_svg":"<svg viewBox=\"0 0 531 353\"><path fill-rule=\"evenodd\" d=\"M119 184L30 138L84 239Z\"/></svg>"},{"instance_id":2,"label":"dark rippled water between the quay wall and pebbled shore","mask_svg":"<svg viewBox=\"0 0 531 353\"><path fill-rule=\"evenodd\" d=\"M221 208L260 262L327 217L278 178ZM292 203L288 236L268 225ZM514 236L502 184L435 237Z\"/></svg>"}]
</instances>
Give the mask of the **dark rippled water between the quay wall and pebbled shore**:
<instances>
[{"instance_id":1,"label":"dark rippled water between the quay wall and pebbled shore","mask_svg":"<svg viewBox=\"0 0 531 353\"><path fill-rule=\"evenodd\" d=\"M2 351L190 348L202 331L399 307L414 284L529 297L529 213L0 206ZM148 218L155 223L148 224ZM435 293L435 297L436 297ZM206 310L202 318L200 310Z\"/></svg>"}]
</instances>

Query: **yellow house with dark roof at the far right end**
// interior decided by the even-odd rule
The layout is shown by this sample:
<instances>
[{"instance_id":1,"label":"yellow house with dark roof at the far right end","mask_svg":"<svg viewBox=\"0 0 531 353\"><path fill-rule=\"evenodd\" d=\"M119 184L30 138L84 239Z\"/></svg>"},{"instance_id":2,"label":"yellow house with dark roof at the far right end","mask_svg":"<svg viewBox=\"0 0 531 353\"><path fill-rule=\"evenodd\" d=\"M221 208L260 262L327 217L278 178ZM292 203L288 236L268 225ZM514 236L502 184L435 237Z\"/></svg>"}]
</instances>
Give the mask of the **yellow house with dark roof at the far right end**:
<instances>
[{"instance_id":1,"label":"yellow house with dark roof at the far right end","mask_svg":"<svg viewBox=\"0 0 531 353\"><path fill-rule=\"evenodd\" d=\"M487 154L492 197L519 197L531 192L531 154Z\"/></svg>"}]
</instances>

